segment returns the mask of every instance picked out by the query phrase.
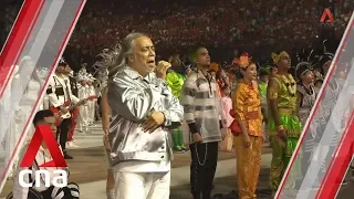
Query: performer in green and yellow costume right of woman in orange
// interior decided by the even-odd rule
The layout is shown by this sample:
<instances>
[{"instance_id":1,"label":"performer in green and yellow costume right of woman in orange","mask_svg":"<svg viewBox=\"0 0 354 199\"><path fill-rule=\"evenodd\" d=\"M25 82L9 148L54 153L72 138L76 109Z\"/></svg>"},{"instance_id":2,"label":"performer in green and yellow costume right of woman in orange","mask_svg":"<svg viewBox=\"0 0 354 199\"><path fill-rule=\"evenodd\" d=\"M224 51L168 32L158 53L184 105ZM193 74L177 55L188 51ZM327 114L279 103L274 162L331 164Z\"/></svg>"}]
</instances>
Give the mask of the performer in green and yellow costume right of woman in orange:
<instances>
[{"instance_id":1,"label":"performer in green and yellow costume right of woman in orange","mask_svg":"<svg viewBox=\"0 0 354 199\"><path fill-rule=\"evenodd\" d=\"M278 66L278 74L271 76L267 95L270 108L269 133L273 149L270 187L277 191L302 129L296 116L296 82L288 72L291 69L290 56L283 51L280 54L272 53L272 59ZM299 167L295 169L300 175ZM294 178L291 176L289 179ZM294 184L291 186L293 187Z\"/></svg>"}]
</instances>

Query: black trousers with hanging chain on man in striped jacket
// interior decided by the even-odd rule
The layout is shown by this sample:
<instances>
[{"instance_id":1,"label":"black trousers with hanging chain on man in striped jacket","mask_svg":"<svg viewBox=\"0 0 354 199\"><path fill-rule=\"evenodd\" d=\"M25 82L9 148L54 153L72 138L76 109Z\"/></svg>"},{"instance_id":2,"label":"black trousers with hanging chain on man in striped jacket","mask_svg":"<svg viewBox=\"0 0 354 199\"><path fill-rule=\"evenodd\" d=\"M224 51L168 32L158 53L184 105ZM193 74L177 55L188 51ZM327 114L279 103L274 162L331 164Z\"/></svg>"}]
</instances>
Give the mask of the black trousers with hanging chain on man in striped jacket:
<instances>
[{"instance_id":1,"label":"black trousers with hanging chain on man in striped jacket","mask_svg":"<svg viewBox=\"0 0 354 199\"><path fill-rule=\"evenodd\" d=\"M218 164L218 142L189 145L190 185L194 199L210 199Z\"/></svg>"}]
</instances>

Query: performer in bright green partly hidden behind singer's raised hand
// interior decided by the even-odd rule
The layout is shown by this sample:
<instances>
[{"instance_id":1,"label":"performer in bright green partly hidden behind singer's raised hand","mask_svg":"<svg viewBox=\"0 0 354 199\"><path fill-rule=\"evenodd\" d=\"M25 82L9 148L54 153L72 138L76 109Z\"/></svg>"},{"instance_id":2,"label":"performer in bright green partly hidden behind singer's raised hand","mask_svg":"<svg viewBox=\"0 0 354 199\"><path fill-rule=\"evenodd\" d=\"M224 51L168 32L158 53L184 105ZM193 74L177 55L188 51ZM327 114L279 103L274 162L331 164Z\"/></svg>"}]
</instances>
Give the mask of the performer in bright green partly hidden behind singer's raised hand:
<instances>
[{"instance_id":1,"label":"performer in bright green partly hidden behind singer's raised hand","mask_svg":"<svg viewBox=\"0 0 354 199\"><path fill-rule=\"evenodd\" d=\"M166 82L170 87L173 94L179 98L181 88L184 86L186 75L183 74L183 65L179 59L179 55L174 55L169 59L169 63L171 63L171 69L168 71L166 75ZM171 130L174 149L176 151L183 153L186 150L184 145L184 133L181 127L175 128Z\"/></svg>"}]
</instances>

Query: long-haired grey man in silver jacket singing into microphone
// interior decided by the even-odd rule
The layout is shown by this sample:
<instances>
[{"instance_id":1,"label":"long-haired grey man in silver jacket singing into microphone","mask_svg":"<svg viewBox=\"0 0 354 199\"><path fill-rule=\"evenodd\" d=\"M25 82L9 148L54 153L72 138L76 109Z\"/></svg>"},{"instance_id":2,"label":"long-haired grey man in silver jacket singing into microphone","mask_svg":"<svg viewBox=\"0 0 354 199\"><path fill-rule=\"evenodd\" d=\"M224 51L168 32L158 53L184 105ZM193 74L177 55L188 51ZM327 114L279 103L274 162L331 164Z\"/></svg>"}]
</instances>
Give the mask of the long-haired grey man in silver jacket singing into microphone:
<instances>
[{"instance_id":1,"label":"long-haired grey man in silver jacket singing into microphone","mask_svg":"<svg viewBox=\"0 0 354 199\"><path fill-rule=\"evenodd\" d=\"M154 72L155 49L142 33L131 33L108 64L111 159L116 198L168 199L173 157L168 128L183 122L183 107L165 82L169 66ZM164 70L165 69L165 70Z\"/></svg>"}]
</instances>

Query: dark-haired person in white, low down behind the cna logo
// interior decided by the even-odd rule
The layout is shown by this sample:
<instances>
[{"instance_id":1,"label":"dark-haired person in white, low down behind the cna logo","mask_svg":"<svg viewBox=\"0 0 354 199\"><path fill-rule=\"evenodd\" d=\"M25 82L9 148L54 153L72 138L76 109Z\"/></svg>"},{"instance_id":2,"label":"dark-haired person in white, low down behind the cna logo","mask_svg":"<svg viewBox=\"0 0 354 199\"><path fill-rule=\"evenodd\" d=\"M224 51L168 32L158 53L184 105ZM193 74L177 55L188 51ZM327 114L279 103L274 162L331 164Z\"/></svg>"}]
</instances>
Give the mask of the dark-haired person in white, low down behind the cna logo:
<instances>
[{"instance_id":1,"label":"dark-haired person in white, low down behind the cna logo","mask_svg":"<svg viewBox=\"0 0 354 199\"><path fill-rule=\"evenodd\" d=\"M50 109L39 111L34 116L33 125L35 127L38 125L50 125L52 133L54 135L56 134L55 117L53 112L51 112ZM29 143L27 143L22 148L22 151L19 156L21 157L21 159L23 158L28 149L28 146L29 146ZM52 179L59 176L58 174L54 174L53 170L58 170L60 168L49 168L49 167L39 168L39 165L45 164L51 160L53 160L52 156L48 149L46 144L43 142L35 156L32 167L19 168L17 170L15 177L13 179L12 193L10 193L8 198L12 197L13 199L38 199L34 195L40 195L45 199L79 199L80 191L79 191L79 186L76 184L71 182L64 188L54 187L52 185ZM48 170L50 172L50 179L51 179L50 187L45 187L43 177L41 178L41 182L39 184L40 185L39 187L38 186L33 186L31 188L22 187L20 185L19 174L21 170L24 170L24 169L31 169L32 171L35 171L39 169ZM62 168L62 169L64 169L69 174L67 168ZM37 184L35 180L37 180L37 177L33 175L33 172L31 175L23 176L23 181L27 184L35 185Z\"/></svg>"}]
</instances>

